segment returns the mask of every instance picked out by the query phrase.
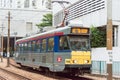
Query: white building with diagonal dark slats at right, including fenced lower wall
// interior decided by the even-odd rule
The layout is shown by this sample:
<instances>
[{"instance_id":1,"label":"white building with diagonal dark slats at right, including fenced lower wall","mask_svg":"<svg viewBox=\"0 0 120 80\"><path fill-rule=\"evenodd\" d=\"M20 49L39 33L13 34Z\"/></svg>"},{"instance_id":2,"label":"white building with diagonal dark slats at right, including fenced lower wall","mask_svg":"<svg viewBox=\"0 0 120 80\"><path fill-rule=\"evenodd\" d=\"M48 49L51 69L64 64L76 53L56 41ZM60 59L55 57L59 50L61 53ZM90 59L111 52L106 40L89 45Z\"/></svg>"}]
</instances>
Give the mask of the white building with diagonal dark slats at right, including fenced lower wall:
<instances>
[{"instance_id":1,"label":"white building with diagonal dark slats at right, including fenced lower wall","mask_svg":"<svg viewBox=\"0 0 120 80\"><path fill-rule=\"evenodd\" d=\"M112 0L112 22L113 22L113 75L120 76L120 0ZM67 8L69 15L66 21L82 21L83 26L92 25L96 27L107 24L107 0L79 0ZM63 20L63 11L54 15L54 26ZM56 20L57 19L57 20ZM99 43L98 43L99 44ZM92 72L106 74L106 63L109 55L106 48L92 49Z\"/></svg>"}]
</instances>

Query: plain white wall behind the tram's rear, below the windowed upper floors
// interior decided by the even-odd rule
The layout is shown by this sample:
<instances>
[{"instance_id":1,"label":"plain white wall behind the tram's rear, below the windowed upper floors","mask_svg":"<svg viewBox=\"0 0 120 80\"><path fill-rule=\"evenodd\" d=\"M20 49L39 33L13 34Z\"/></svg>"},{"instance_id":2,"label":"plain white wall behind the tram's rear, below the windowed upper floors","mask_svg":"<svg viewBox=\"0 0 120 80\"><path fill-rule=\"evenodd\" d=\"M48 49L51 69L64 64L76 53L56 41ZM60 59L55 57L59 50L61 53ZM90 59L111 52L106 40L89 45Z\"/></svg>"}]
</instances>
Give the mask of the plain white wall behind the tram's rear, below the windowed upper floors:
<instances>
[{"instance_id":1,"label":"plain white wall behind the tram's rear, below the windowed upper floors","mask_svg":"<svg viewBox=\"0 0 120 80\"><path fill-rule=\"evenodd\" d=\"M49 10L24 10L24 9L3 9L0 10L0 26L3 25L4 35L7 36L8 11L10 11L10 33L14 36L17 32L18 37L23 37L28 33L39 31L36 24L40 23L43 15L51 13Z\"/></svg>"}]
</instances>

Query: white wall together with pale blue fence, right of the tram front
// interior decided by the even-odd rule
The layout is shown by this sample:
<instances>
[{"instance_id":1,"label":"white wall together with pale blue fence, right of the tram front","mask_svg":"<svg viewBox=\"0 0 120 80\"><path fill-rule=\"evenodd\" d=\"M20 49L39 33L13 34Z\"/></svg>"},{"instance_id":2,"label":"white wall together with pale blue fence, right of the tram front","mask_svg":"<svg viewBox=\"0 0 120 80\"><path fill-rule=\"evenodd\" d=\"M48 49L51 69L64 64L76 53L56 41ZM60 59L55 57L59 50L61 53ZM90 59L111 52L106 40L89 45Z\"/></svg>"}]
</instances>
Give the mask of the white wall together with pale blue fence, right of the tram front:
<instances>
[{"instance_id":1,"label":"white wall together with pale blue fence, right of the tram front","mask_svg":"<svg viewBox=\"0 0 120 80\"><path fill-rule=\"evenodd\" d=\"M120 76L120 48L113 47L112 50L112 71L113 77ZM106 48L92 49L92 74L107 75L107 61L109 59Z\"/></svg>"}]
</instances>

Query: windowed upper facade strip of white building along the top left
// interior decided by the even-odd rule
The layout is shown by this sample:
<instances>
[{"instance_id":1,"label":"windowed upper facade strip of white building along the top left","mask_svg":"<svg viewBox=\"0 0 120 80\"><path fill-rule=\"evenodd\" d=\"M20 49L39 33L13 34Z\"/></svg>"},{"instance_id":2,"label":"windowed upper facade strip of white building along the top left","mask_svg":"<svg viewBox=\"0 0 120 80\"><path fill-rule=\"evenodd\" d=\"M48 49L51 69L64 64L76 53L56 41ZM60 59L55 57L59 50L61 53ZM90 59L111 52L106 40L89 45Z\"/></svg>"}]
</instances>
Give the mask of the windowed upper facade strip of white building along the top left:
<instances>
[{"instance_id":1,"label":"windowed upper facade strip of white building along the top left","mask_svg":"<svg viewBox=\"0 0 120 80\"><path fill-rule=\"evenodd\" d=\"M0 0L0 8L38 9L51 7L51 0Z\"/></svg>"}]
</instances>

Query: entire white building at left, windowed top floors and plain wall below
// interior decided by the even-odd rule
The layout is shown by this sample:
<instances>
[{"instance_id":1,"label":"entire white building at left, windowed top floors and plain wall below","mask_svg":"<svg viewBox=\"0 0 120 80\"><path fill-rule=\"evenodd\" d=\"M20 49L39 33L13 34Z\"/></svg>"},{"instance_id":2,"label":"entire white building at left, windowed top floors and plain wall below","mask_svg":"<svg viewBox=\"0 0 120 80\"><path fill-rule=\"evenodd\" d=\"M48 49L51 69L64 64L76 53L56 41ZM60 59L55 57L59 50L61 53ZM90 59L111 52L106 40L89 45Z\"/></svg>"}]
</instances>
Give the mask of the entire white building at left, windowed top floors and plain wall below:
<instances>
[{"instance_id":1,"label":"entire white building at left, windowed top floors and plain wall below","mask_svg":"<svg viewBox=\"0 0 120 80\"><path fill-rule=\"evenodd\" d=\"M47 4L47 6L46 6ZM41 23L43 15L51 13L48 0L0 0L0 27L5 27L4 51L6 51L8 12L10 11L10 47L13 48L14 37L25 37L39 31L36 24ZM47 8L46 8L47 7ZM2 29L0 28L0 33ZM14 33L17 32L17 35Z\"/></svg>"}]
</instances>

